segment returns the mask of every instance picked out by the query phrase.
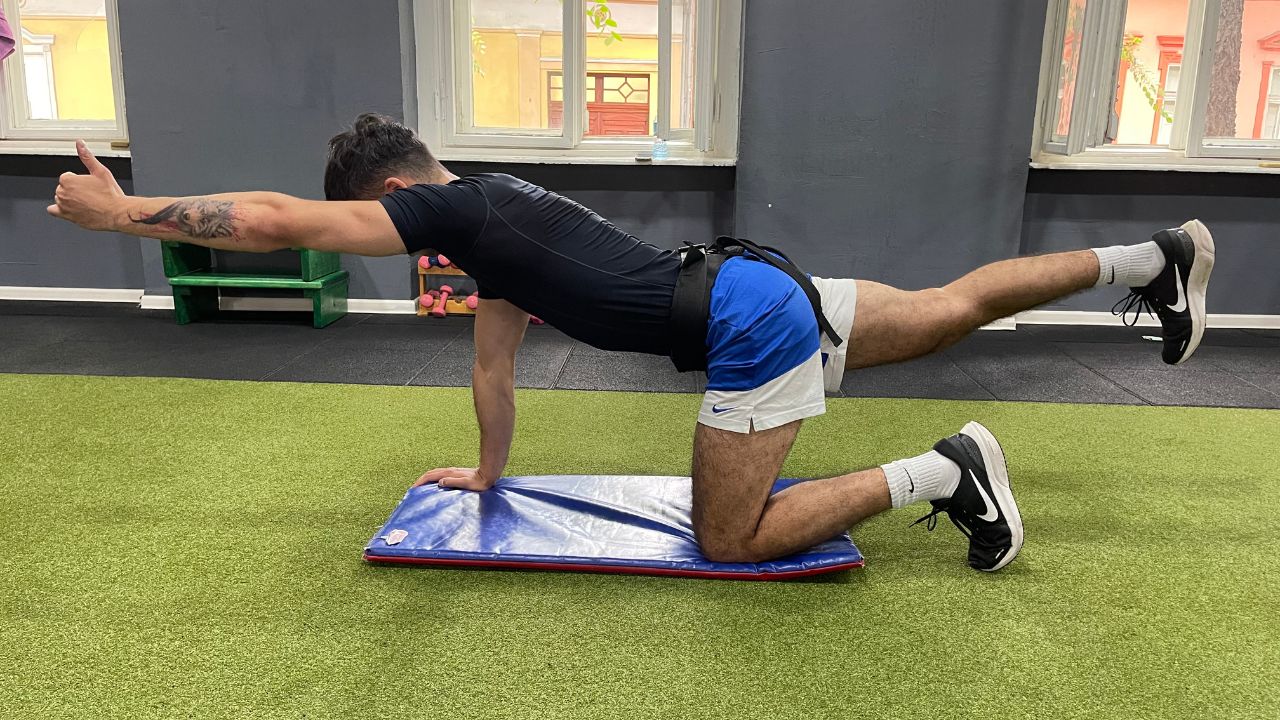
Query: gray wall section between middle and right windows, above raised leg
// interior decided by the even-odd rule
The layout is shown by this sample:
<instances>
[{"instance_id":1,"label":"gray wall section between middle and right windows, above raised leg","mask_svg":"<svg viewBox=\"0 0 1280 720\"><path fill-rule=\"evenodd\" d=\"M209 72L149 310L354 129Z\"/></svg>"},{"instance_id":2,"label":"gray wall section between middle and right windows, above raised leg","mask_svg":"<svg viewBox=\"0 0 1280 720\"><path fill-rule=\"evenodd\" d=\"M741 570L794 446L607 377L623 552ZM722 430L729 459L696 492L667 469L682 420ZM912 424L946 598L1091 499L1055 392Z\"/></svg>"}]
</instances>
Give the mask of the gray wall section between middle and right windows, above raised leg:
<instances>
[{"instance_id":1,"label":"gray wall section between middle and right windows, above raised leg","mask_svg":"<svg viewBox=\"0 0 1280 720\"><path fill-rule=\"evenodd\" d=\"M1018 251L1044 0L749 0L737 228L928 287Z\"/></svg>"}]
</instances>

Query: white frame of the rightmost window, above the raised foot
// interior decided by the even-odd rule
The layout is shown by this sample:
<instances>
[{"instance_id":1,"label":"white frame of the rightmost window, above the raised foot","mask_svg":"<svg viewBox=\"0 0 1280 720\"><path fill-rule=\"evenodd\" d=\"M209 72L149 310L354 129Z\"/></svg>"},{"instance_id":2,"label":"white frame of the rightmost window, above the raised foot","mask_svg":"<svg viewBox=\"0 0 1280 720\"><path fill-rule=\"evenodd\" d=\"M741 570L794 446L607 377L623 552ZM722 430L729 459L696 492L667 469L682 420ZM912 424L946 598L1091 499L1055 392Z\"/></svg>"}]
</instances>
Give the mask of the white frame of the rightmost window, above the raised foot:
<instances>
[{"instance_id":1,"label":"white frame of the rightmost window, above the raised foot","mask_svg":"<svg viewBox=\"0 0 1280 720\"><path fill-rule=\"evenodd\" d=\"M1128 0L1088 0L1080 67L1066 142L1051 142L1056 123L1062 36L1070 0L1050 0L1041 55L1039 95L1032 137L1032 167L1052 169L1165 169L1192 172L1277 173L1266 160L1280 158L1280 140L1206 138L1208 82L1213 67L1221 0L1190 0L1178 81L1179 111L1169 146L1115 146L1106 132L1115 106L1115 78ZM1085 85L1087 83L1087 85ZM1189 111L1183 111L1189 110Z\"/></svg>"}]
</instances>

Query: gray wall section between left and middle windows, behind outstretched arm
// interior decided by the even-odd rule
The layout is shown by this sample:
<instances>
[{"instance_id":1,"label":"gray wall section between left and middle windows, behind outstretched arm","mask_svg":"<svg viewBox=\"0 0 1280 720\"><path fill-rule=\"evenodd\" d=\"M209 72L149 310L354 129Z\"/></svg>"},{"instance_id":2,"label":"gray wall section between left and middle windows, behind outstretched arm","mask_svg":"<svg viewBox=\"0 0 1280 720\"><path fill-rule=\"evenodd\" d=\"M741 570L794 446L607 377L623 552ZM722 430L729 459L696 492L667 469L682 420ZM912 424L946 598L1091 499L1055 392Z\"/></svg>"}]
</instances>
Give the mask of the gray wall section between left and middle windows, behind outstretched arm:
<instances>
[{"instance_id":1,"label":"gray wall section between left and middle windows, behind outstretched arm","mask_svg":"<svg viewBox=\"0 0 1280 720\"><path fill-rule=\"evenodd\" d=\"M398 38L396 3L122 3L137 191L323 197L329 137L357 113L403 111ZM147 291L165 292L156 243L142 250ZM406 259L343 263L352 297L406 296Z\"/></svg>"}]
</instances>

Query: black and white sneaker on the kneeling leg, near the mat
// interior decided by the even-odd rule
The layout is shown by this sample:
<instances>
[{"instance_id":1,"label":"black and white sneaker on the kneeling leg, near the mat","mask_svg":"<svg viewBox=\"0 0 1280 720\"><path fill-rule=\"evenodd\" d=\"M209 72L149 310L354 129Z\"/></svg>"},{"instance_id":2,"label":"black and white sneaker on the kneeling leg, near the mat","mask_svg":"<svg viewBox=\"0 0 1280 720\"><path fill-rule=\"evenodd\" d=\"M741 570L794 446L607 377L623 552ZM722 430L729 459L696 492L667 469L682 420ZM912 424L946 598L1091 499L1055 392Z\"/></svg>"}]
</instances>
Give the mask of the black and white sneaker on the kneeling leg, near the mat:
<instances>
[{"instance_id":1,"label":"black and white sneaker on the kneeling leg, near the mat","mask_svg":"<svg viewBox=\"0 0 1280 720\"><path fill-rule=\"evenodd\" d=\"M979 423L969 423L959 434L938 441L933 450L960 465L960 484L951 497L933 500L933 512L924 523L929 530L938 524L938 512L969 538L969 566L992 573L1009 565L1023 548L1023 518L1009 487L1005 452L996 436Z\"/></svg>"}]
</instances>

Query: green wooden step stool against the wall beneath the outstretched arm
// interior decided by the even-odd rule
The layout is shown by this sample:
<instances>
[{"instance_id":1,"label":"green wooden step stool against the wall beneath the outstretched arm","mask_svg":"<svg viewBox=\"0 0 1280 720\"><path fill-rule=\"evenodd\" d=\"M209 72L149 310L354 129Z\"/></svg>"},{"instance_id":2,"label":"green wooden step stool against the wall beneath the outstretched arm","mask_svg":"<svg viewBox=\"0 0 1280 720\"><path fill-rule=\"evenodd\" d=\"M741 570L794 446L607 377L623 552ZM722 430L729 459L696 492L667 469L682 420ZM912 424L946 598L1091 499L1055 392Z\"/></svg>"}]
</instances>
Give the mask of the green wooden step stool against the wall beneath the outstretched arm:
<instances>
[{"instance_id":1,"label":"green wooden step stool against the wall beneath the outstretched arm","mask_svg":"<svg viewBox=\"0 0 1280 720\"><path fill-rule=\"evenodd\" d=\"M214 272L214 254L207 247L184 242L163 242L164 274L173 286L173 311L179 325L218 314L218 293L223 287L301 290L311 300L311 324L323 328L347 314L347 270L340 255L298 250L297 275L233 274Z\"/></svg>"}]
</instances>

